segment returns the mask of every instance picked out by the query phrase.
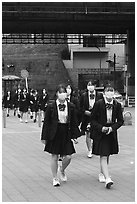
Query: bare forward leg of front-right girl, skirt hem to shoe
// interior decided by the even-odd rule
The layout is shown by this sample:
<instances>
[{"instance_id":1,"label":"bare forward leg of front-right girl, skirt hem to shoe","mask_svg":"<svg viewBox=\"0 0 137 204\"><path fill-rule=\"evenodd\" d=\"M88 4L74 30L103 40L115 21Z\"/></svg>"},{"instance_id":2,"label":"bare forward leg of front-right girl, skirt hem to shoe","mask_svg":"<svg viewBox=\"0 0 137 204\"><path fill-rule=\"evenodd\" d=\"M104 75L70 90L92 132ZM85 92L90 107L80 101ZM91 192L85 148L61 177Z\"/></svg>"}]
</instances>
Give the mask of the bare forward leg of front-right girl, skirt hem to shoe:
<instances>
[{"instance_id":1,"label":"bare forward leg of front-right girl, skirt hem to shoe","mask_svg":"<svg viewBox=\"0 0 137 204\"><path fill-rule=\"evenodd\" d=\"M100 169L101 173L104 174L105 178L108 179L109 176L109 171L108 171L108 156L100 156Z\"/></svg>"}]
</instances>

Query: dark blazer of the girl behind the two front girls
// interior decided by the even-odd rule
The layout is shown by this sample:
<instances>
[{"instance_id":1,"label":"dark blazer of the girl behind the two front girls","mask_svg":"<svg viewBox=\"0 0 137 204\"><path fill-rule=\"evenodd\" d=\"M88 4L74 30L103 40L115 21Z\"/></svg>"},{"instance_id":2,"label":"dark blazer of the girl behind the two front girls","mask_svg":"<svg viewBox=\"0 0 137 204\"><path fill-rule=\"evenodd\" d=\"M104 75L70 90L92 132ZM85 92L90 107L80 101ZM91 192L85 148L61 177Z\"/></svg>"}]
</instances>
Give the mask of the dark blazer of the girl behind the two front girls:
<instances>
[{"instance_id":1,"label":"dark blazer of the girl behind the two front girls","mask_svg":"<svg viewBox=\"0 0 137 204\"><path fill-rule=\"evenodd\" d=\"M98 101L99 99L103 98L102 93L96 92L95 94L95 102ZM86 131L87 124L90 122L90 116L85 115L85 111L89 110L89 97L88 97L88 91L83 93L80 97L80 108L81 108L81 130Z\"/></svg>"}]
</instances>

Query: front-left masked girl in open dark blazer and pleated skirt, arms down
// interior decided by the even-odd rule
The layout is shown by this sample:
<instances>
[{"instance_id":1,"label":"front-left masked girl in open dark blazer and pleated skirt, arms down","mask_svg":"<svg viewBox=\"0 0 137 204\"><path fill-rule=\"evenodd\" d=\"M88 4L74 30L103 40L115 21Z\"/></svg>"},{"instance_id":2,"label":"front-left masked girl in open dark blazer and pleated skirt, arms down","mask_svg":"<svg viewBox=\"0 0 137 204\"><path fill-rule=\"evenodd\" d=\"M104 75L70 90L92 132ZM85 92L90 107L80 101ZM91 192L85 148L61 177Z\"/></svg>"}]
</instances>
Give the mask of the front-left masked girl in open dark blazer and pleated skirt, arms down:
<instances>
[{"instance_id":1,"label":"front-left masked girl in open dark blazer and pleated skirt, arms down","mask_svg":"<svg viewBox=\"0 0 137 204\"><path fill-rule=\"evenodd\" d=\"M71 162L71 155L75 148L71 139L79 136L76 122L75 107L66 100L66 88L59 85L56 90L56 100L49 103L45 113L41 140L45 144L44 151L51 154L51 171L53 186L59 186L58 157L63 157L59 168L60 179L67 181L66 168Z\"/></svg>"}]
</instances>

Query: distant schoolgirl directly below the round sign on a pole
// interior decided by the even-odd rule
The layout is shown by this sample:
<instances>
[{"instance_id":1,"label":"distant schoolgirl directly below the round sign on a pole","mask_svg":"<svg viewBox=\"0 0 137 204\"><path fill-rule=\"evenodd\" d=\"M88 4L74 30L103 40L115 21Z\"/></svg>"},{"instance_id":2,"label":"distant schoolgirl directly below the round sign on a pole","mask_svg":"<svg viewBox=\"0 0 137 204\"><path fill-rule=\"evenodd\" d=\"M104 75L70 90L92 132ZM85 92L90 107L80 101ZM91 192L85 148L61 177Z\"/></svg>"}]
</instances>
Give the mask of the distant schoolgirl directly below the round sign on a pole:
<instances>
[{"instance_id":1,"label":"distant schoolgirl directly below the round sign on a pole","mask_svg":"<svg viewBox=\"0 0 137 204\"><path fill-rule=\"evenodd\" d=\"M23 122L23 117L25 116L25 123L28 123L28 107L29 107L29 98L27 89L23 89L20 95L20 122Z\"/></svg>"}]
</instances>

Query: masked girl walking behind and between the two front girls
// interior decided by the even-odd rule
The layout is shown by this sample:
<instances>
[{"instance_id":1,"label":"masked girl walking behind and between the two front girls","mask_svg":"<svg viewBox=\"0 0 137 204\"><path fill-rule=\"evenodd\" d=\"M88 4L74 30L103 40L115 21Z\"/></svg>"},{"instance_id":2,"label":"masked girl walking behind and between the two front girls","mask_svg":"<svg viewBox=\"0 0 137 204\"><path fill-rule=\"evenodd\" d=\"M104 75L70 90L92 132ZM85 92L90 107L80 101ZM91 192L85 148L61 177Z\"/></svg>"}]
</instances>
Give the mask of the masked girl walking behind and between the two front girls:
<instances>
[{"instance_id":1,"label":"masked girl walking behind and between the two front girls","mask_svg":"<svg viewBox=\"0 0 137 204\"><path fill-rule=\"evenodd\" d=\"M80 108L81 108L81 131L86 135L86 145L88 149L88 158L92 158L92 131L90 125L90 117L95 101L103 98L102 93L98 93L96 90L96 85L93 80L87 83L87 90L80 97Z\"/></svg>"}]
</instances>

